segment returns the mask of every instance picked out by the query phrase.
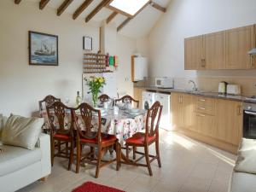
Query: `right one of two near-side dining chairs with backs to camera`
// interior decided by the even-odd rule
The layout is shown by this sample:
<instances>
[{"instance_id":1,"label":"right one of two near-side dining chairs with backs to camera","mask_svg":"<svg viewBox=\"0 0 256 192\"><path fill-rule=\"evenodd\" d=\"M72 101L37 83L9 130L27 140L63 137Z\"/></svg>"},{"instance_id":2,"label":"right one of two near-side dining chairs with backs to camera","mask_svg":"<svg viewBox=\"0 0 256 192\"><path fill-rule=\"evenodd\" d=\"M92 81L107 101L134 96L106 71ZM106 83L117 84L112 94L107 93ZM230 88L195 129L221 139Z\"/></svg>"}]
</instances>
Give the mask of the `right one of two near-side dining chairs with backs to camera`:
<instances>
[{"instance_id":1,"label":"right one of two near-side dining chairs with backs to camera","mask_svg":"<svg viewBox=\"0 0 256 192\"><path fill-rule=\"evenodd\" d=\"M76 113L79 113L77 115ZM85 161L88 164L96 165L96 178L99 176L100 168L102 166L107 166L113 161L117 160L117 171L119 170L119 160L120 160L120 147L117 137L114 135L108 135L102 133L102 117L101 111L92 108L87 103L82 103L78 108L73 109L73 119L76 125L76 146L77 146L77 165L76 173L79 173L79 167L81 161ZM84 130L79 124L79 119L82 120L84 124ZM94 120L97 121L94 124ZM89 146L90 153L82 154L82 147ZM116 158L113 160L102 160L102 156L112 147L116 151ZM95 158L95 148L97 148L97 156ZM82 158L83 156L83 158Z\"/></svg>"}]
</instances>

